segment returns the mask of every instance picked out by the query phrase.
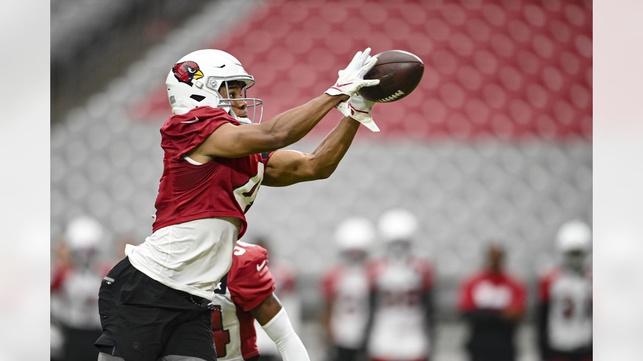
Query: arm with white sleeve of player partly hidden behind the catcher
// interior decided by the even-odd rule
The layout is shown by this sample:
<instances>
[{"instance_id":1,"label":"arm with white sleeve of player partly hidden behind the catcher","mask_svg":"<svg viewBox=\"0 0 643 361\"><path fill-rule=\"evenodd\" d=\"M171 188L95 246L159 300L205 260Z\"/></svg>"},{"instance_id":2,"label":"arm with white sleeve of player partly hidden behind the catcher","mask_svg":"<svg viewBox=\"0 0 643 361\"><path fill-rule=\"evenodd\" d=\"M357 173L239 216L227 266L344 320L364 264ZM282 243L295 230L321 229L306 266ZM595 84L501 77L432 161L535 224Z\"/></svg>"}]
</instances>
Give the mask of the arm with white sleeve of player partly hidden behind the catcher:
<instances>
[{"instance_id":1,"label":"arm with white sleeve of player partly hidden behind the catcher","mask_svg":"<svg viewBox=\"0 0 643 361\"><path fill-rule=\"evenodd\" d=\"M309 361L308 352L290 323L285 308L275 294L271 294L251 310L255 319L275 342L284 361Z\"/></svg>"}]
</instances>

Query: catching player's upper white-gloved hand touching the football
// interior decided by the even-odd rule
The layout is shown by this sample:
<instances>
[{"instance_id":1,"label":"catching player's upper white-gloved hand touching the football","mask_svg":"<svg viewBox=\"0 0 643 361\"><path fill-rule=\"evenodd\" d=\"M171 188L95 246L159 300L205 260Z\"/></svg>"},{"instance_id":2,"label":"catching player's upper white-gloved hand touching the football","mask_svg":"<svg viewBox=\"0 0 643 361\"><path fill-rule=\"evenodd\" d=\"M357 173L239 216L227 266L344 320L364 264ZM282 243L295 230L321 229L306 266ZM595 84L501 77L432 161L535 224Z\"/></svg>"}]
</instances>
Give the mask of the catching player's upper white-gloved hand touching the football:
<instances>
[{"instance_id":1,"label":"catching player's upper white-gloved hand touching the football","mask_svg":"<svg viewBox=\"0 0 643 361\"><path fill-rule=\"evenodd\" d=\"M370 87L379 84L379 80L377 79L364 80L364 75L375 66L376 62L377 58L370 57L370 48L366 48L364 51L358 51L353 57L353 60L350 61L349 66L340 70L340 77L337 79L337 82L335 82L335 85L330 87L325 93L332 96L340 94L352 96L358 92L361 87Z\"/></svg>"}]
</instances>

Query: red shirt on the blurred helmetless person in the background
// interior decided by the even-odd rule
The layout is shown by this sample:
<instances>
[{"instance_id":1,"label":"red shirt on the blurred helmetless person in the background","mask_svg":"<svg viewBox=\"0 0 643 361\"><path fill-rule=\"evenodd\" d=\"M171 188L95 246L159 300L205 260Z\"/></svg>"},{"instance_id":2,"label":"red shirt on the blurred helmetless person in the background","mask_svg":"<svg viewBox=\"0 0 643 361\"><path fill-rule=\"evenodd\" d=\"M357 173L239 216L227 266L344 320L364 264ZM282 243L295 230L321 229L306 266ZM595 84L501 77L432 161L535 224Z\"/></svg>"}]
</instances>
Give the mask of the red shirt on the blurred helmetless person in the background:
<instances>
[{"instance_id":1,"label":"red shirt on the blurred helmetless person in the background","mask_svg":"<svg viewBox=\"0 0 643 361\"><path fill-rule=\"evenodd\" d=\"M525 286L514 277L483 271L464 281L458 305L461 312L511 310L523 313L525 297Z\"/></svg>"}]
</instances>

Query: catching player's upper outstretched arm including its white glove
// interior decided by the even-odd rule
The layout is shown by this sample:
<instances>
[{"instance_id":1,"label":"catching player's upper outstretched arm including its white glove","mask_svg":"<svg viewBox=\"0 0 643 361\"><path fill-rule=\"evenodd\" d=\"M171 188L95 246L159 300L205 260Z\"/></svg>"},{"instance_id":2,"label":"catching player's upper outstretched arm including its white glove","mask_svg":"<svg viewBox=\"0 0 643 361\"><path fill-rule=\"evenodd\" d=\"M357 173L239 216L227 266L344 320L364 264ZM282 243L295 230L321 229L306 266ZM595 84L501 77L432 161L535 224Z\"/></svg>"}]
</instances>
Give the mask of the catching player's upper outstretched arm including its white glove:
<instances>
[{"instance_id":1,"label":"catching player's upper outstretched arm including its white glove","mask_svg":"<svg viewBox=\"0 0 643 361\"><path fill-rule=\"evenodd\" d=\"M359 51L343 69L336 84L325 94L265 123L242 127L222 125L197 146L194 152L209 157L242 157L271 152L302 139L338 103L349 100L361 87L379 83L379 80L364 80L364 75L377 61L376 58L370 58L369 54L370 48L364 52Z\"/></svg>"}]
</instances>

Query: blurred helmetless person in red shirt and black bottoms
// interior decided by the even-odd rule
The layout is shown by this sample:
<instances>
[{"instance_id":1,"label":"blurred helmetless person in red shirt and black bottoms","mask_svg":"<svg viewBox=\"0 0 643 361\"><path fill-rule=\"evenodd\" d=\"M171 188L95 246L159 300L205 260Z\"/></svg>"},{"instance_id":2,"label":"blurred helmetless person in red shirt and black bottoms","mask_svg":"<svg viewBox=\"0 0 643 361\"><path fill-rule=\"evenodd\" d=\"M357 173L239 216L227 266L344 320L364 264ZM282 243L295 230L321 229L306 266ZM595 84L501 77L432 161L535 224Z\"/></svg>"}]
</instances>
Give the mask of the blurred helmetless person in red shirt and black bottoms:
<instances>
[{"instance_id":1,"label":"blurred helmetless person in red shirt and black bottoms","mask_svg":"<svg viewBox=\"0 0 643 361\"><path fill-rule=\"evenodd\" d=\"M487 249L486 267L460 287L458 307L469 324L471 361L514 361L516 326L525 312L525 286L504 269L499 243Z\"/></svg>"}]
</instances>

